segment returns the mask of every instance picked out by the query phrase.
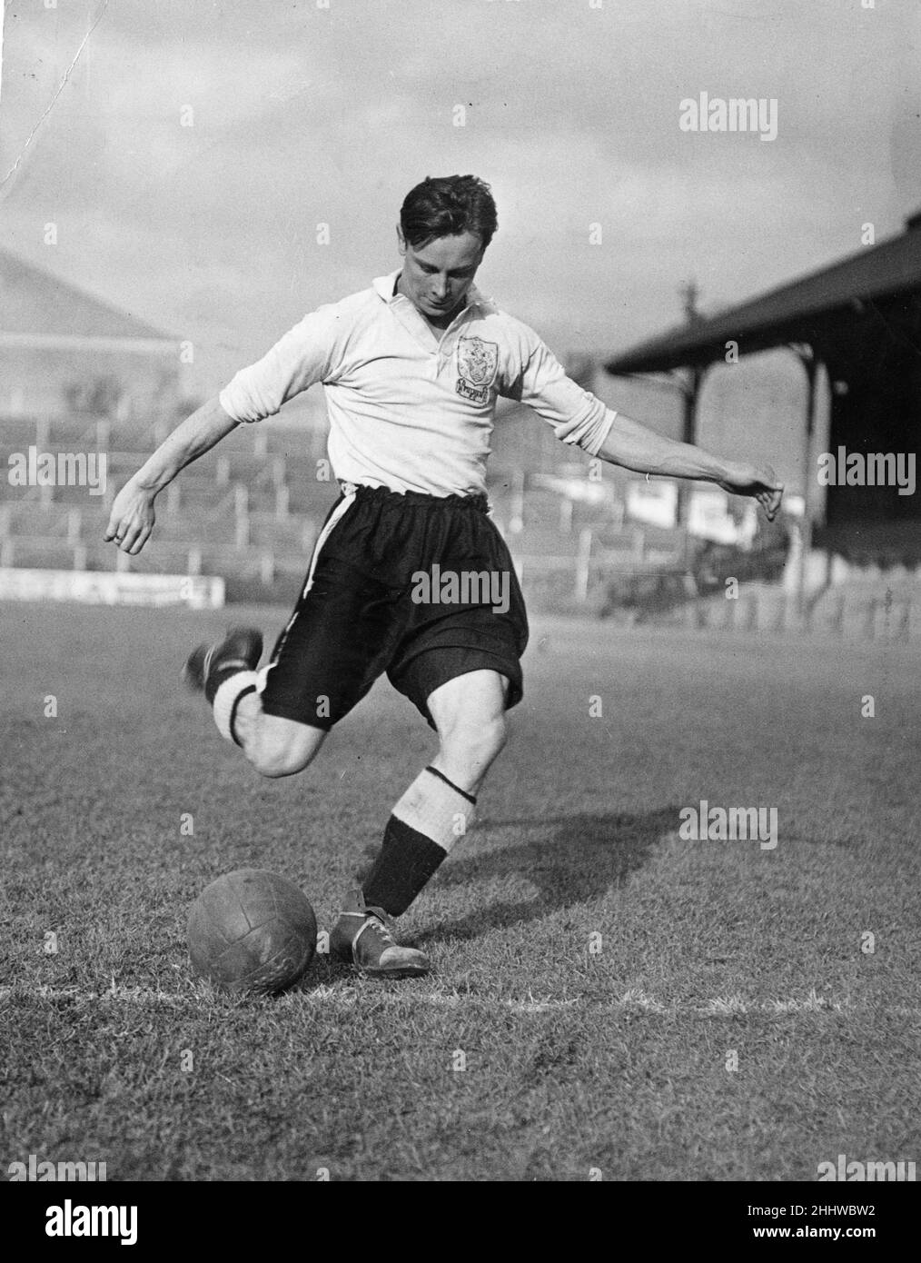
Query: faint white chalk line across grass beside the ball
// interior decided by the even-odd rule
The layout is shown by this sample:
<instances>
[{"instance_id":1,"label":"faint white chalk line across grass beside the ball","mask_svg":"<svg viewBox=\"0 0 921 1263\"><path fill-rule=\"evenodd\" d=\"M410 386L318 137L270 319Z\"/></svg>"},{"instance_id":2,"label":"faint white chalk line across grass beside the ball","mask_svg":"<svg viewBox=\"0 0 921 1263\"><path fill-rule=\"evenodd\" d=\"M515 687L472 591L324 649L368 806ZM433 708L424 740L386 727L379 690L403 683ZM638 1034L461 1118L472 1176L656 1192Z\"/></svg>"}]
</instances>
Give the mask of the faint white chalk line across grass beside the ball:
<instances>
[{"instance_id":1,"label":"faint white chalk line across grass beside the ball","mask_svg":"<svg viewBox=\"0 0 921 1263\"><path fill-rule=\"evenodd\" d=\"M220 993L215 993L217 998ZM418 994L414 990L404 990L399 995L393 993L378 993L371 988L361 991L354 988L337 988L320 984L310 990L292 991L287 997L289 1000L299 1000L304 1004L337 1004L342 1008L358 1005L364 999L378 999L382 995L397 999L400 1003L431 1005L435 1008L500 1008L513 1013L553 1013L569 1010L571 1013L624 1013L639 1010L654 1014L656 1017L705 1017L705 1018L735 1018L735 1017L790 1017L805 1013L824 1013L835 1015L853 1015L860 1012L878 1012L879 1005L854 1004L852 1000L831 1000L817 995L815 990L806 997L788 997L776 999L745 999L742 995L714 997L710 1000L699 1003L663 1003L648 995L641 988L630 988L617 999L603 1002L585 1002L582 999L557 1000L552 998L536 999L528 995L523 999L500 999L488 995L451 995L435 991L431 994ZM159 991L144 986L115 986L101 991L82 990L78 986L0 986L0 1000L8 999L34 999L34 1000L76 1000L78 1003L92 1004L104 1000L115 1000L121 1004L173 1004L173 1005L198 1005L208 998L205 991ZM240 997L244 999L244 997ZM902 1005L883 1005L883 1012L892 1017L918 1017L921 1009Z\"/></svg>"}]
</instances>

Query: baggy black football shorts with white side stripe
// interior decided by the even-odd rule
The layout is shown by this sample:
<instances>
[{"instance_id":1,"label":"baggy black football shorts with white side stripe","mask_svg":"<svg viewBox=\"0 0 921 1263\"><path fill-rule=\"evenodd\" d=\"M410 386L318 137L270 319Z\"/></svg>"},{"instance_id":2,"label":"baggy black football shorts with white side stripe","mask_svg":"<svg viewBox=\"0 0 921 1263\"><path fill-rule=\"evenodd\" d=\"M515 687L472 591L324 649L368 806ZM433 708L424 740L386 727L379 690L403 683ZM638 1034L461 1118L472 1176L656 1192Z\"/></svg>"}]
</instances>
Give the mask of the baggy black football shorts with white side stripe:
<instances>
[{"instance_id":1,"label":"baggy black football shorts with white side stripe","mask_svg":"<svg viewBox=\"0 0 921 1263\"><path fill-rule=\"evenodd\" d=\"M427 700L470 671L522 697L528 623L485 496L352 488L330 510L275 644L263 711L331 729L387 672L432 726Z\"/></svg>"}]
</instances>

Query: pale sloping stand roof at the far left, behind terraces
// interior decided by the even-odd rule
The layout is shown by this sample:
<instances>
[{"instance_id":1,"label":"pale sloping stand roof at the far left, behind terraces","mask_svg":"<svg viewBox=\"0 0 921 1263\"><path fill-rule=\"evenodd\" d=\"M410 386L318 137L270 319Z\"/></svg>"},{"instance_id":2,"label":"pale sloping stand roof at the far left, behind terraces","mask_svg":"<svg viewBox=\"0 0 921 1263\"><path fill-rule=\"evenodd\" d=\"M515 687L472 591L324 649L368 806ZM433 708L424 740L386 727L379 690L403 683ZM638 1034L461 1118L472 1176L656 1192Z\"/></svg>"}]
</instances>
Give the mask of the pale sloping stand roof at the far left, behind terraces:
<instances>
[{"instance_id":1,"label":"pale sloping stand roof at the far left, behind terraces","mask_svg":"<svg viewBox=\"0 0 921 1263\"><path fill-rule=\"evenodd\" d=\"M177 341L53 273L0 250L0 340L4 337L20 344L33 337L136 338L164 345Z\"/></svg>"}]
</instances>

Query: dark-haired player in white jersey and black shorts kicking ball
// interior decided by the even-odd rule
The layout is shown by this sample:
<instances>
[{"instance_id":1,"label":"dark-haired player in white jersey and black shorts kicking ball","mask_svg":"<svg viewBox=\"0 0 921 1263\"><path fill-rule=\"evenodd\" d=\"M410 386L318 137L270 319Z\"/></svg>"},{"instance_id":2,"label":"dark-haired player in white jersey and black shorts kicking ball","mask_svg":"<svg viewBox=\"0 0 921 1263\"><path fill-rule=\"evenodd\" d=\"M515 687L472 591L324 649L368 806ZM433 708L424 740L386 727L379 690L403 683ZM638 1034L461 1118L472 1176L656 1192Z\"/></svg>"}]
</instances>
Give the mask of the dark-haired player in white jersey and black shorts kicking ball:
<instances>
[{"instance_id":1,"label":"dark-haired player in white jersey and black shorts kicking ball","mask_svg":"<svg viewBox=\"0 0 921 1263\"><path fill-rule=\"evenodd\" d=\"M427 971L387 918L406 912L470 827L505 711L522 697L524 601L485 494L497 399L528 404L590 456L718 482L757 498L768 518L783 490L772 470L661 438L570 380L533 330L474 287L495 229L489 186L474 176L417 184L400 210L400 269L306 316L182 422L117 494L105 536L139 553L179 470L323 385L341 495L288 625L262 671L262 634L235 629L196 649L186 677L265 777L302 772L384 672L437 733L437 754L393 807L330 936L334 959L375 975ZM495 582L476 589L476 576L498 577L505 599L495 602Z\"/></svg>"}]
</instances>

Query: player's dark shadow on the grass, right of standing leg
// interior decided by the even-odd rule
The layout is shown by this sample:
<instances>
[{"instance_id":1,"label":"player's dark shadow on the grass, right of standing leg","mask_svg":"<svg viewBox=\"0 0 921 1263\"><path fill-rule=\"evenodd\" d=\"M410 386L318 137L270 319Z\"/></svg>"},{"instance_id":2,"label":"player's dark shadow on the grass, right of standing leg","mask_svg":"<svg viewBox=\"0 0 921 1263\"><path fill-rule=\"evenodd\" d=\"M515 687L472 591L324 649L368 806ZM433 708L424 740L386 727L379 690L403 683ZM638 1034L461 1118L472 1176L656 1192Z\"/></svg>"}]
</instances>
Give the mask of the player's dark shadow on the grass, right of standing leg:
<instances>
[{"instance_id":1,"label":"player's dark shadow on the grass, right of standing leg","mask_svg":"<svg viewBox=\"0 0 921 1263\"><path fill-rule=\"evenodd\" d=\"M585 903L623 885L646 864L652 847L675 832L678 807L661 807L643 815L542 816L536 820L490 820L484 830L498 835L495 850L456 855L435 882L440 888L521 877L537 887L537 895L517 902L486 902L457 921L424 927L414 940L475 938L490 930L534 921L574 904ZM514 829L526 841L502 846L502 832ZM533 835L529 840L527 835Z\"/></svg>"}]
</instances>

